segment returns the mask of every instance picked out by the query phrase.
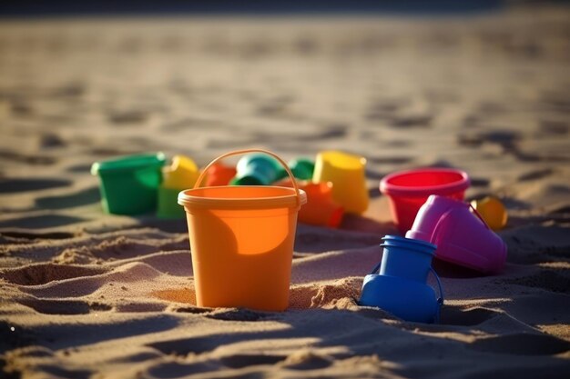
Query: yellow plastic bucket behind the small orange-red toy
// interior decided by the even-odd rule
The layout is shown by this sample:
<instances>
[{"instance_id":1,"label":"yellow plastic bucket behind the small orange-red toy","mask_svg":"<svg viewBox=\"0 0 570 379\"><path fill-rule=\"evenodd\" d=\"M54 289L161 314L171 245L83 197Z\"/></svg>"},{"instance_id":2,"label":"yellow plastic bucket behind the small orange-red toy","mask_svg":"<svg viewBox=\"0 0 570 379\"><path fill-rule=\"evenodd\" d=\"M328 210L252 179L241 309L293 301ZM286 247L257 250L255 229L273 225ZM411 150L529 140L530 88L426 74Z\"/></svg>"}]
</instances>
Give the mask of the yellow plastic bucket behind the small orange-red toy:
<instances>
[{"instance_id":1,"label":"yellow plastic bucket behind the small orange-red toy","mask_svg":"<svg viewBox=\"0 0 570 379\"><path fill-rule=\"evenodd\" d=\"M369 203L365 177L366 159L339 151L317 155L312 181L332 183L332 198L347 213L361 214Z\"/></svg>"}]
</instances>

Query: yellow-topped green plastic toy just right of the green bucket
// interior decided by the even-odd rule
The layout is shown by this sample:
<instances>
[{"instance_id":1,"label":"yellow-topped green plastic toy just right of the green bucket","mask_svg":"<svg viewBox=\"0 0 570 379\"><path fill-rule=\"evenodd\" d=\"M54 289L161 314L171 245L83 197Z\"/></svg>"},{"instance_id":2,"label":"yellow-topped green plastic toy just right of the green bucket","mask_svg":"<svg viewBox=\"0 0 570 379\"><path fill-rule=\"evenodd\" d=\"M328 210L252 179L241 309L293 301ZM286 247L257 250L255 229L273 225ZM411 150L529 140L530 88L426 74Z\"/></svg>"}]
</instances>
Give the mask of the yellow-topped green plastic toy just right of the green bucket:
<instances>
[{"instance_id":1,"label":"yellow-topped green plastic toy just right of the green bucket","mask_svg":"<svg viewBox=\"0 0 570 379\"><path fill-rule=\"evenodd\" d=\"M198 178L198 166L188 156L175 155L172 165L162 168L162 184L158 187L158 217L184 218L178 193L191 188Z\"/></svg>"}]
</instances>

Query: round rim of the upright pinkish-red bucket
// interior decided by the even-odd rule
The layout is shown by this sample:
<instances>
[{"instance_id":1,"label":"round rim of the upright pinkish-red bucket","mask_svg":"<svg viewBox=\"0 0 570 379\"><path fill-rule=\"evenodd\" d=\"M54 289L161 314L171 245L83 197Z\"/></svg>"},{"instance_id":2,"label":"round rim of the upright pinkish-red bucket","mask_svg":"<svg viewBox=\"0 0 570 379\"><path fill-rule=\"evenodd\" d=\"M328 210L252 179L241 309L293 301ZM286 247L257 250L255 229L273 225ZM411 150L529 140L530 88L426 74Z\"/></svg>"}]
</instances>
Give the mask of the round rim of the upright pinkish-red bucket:
<instances>
[{"instance_id":1,"label":"round rim of the upright pinkish-red bucket","mask_svg":"<svg viewBox=\"0 0 570 379\"><path fill-rule=\"evenodd\" d=\"M457 174L460 175L461 178L443 185L422 185L416 187L407 185L394 185L391 183L391 181L396 177L429 173ZM469 179L469 175L467 175L467 173L463 170L447 167L422 167L412 170L398 171L384 176L380 181L380 191L382 194L388 195L423 197L429 194L453 194L454 192L464 191L469 187L470 184L471 180Z\"/></svg>"}]
</instances>

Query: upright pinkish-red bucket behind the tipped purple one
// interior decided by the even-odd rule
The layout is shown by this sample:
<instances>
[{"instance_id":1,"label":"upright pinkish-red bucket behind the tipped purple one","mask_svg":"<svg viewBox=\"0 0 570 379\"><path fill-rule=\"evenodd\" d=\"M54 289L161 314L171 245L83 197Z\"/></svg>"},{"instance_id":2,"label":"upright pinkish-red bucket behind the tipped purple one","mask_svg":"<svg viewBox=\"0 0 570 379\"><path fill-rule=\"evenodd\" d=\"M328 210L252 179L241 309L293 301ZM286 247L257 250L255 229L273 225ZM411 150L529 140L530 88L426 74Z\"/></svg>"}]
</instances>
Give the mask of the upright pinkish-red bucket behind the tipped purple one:
<instances>
[{"instance_id":1,"label":"upright pinkish-red bucket behind the tipped purple one","mask_svg":"<svg viewBox=\"0 0 570 379\"><path fill-rule=\"evenodd\" d=\"M388 195L393 221L404 234L430 194L463 200L469 185L469 175L462 170L419 168L384 176L380 191Z\"/></svg>"}]
</instances>

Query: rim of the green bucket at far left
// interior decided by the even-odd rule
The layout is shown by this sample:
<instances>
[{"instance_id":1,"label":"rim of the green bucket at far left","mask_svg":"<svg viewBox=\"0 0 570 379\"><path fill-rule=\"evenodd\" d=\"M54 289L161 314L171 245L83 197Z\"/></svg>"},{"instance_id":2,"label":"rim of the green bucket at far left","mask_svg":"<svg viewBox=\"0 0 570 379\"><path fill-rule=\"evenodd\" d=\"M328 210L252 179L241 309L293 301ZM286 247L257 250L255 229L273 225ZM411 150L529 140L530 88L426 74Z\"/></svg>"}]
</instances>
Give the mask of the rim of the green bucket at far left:
<instances>
[{"instance_id":1,"label":"rim of the green bucket at far left","mask_svg":"<svg viewBox=\"0 0 570 379\"><path fill-rule=\"evenodd\" d=\"M162 152L121 155L103 161L97 161L91 165L91 175L125 173L127 171L152 166L162 167L165 162L166 155Z\"/></svg>"}]
</instances>

